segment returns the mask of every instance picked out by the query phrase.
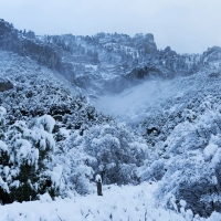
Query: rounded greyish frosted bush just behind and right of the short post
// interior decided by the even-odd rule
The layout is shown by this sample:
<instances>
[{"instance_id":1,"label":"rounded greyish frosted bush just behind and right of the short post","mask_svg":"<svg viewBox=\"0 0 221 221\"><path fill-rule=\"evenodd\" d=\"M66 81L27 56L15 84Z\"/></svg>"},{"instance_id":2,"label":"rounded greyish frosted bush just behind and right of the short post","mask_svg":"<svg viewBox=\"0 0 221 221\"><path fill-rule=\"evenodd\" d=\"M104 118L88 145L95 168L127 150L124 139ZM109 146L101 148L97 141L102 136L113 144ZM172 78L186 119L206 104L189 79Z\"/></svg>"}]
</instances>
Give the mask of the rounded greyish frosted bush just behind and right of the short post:
<instances>
[{"instance_id":1,"label":"rounded greyish frosted bush just behind and right of the short post","mask_svg":"<svg viewBox=\"0 0 221 221\"><path fill-rule=\"evenodd\" d=\"M104 183L137 183L137 167L143 166L147 146L140 144L124 124L94 126L84 135L84 150L95 160L88 162ZM139 143L140 141L140 143Z\"/></svg>"}]
</instances>

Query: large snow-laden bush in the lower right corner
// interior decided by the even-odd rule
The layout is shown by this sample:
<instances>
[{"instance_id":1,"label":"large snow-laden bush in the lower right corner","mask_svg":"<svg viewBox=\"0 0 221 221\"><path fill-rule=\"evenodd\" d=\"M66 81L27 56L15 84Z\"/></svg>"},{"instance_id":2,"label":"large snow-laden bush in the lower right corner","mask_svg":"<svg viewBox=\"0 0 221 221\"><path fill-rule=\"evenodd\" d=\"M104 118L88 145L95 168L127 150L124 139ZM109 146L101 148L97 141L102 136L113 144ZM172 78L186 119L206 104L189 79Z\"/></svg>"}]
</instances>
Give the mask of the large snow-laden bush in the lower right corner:
<instances>
[{"instance_id":1,"label":"large snow-laden bush in the lower right corner","mask_svg":"<svg viewBox=\"0 0 221 221\"><path fill-rule=\"evenodd\" d=\"M194 214L203 217L221 211L220 123L220 113L206 110L193 122L178 124L164 143L155 146L160 157L155 156L152 161L151 156L140 176L143 180L160 180L157 199L165 199L168 206L172 193L178 201L186 200Z\"/></svg>"}]
</instances>

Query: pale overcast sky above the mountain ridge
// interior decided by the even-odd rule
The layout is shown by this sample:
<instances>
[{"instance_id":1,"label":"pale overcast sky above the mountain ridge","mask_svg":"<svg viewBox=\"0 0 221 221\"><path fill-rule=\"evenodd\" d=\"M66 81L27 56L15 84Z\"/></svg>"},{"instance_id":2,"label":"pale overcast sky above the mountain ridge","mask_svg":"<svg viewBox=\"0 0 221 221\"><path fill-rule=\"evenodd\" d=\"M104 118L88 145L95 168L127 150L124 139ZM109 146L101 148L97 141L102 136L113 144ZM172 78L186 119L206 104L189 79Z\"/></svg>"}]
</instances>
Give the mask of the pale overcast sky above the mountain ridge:
<instances>
[{"instance_id":1,"label":"pale overcast sky above the mountain ridge","mask_svg":"<svg viewBox=\"0 0 221 221\"><path fill-rule=\"evenodd\" d=\"M0 0L0 18L36 34L152 33L179 53L221 46L221 0Z\"/></svg>"}]
</instances>

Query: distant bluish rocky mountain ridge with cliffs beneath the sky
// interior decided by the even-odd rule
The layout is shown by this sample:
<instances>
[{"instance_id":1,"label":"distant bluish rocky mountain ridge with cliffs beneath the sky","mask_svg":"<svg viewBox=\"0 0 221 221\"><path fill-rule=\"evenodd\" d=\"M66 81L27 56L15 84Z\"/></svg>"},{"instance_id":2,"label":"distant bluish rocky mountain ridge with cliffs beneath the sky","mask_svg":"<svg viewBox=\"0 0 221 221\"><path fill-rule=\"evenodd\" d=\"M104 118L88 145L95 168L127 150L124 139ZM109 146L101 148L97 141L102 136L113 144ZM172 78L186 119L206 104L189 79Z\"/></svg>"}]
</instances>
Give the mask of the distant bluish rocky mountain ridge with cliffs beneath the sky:
<instances>
[{"instance_id":1,"label":"distant bluish rocky mountain ridge with cliffs beneath the sky","mask_svg":"<svg viewBox=\"0 0 221 221\"><path fill-rule=\"evenodd\" d=\"M221 49L203 54L178 54L167 46L158 50L152 34L98 33L93 36L44 35L19 31L0 21L0 48L30 56L56 70L84 93L119 93L144 80L169 80L203 70L217 70Z\"/></svg>"}]
</instances>

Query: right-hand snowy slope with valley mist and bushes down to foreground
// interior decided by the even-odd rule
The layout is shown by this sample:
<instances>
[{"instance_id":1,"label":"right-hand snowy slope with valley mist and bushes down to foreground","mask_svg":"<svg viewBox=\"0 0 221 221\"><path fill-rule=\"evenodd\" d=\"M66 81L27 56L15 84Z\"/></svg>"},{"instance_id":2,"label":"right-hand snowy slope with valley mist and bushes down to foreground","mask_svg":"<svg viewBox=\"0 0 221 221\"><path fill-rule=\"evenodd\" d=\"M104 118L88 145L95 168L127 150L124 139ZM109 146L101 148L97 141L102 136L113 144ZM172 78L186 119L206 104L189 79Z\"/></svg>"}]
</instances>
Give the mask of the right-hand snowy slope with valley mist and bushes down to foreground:
<instances>
[{"instance_id":1,"label":"right-hand snowy slope with valley mist and bushes down to foreground","mask_svg":"<svg viewBox=\"0 0 221 221\"><path fill-rule=\"evenodd\" d=\"M220 211L220 77L215 70L146 82L96 103L146 139L141 179L159 181L161 202L172 192L204 217Z\"/></svg>"}]
</instances>

